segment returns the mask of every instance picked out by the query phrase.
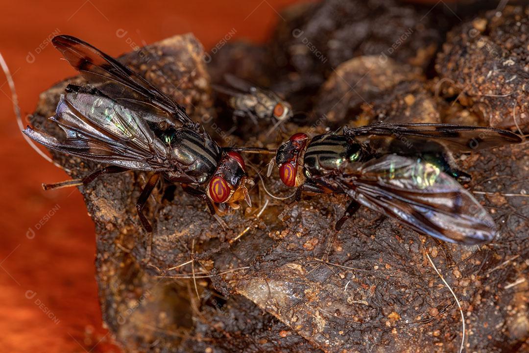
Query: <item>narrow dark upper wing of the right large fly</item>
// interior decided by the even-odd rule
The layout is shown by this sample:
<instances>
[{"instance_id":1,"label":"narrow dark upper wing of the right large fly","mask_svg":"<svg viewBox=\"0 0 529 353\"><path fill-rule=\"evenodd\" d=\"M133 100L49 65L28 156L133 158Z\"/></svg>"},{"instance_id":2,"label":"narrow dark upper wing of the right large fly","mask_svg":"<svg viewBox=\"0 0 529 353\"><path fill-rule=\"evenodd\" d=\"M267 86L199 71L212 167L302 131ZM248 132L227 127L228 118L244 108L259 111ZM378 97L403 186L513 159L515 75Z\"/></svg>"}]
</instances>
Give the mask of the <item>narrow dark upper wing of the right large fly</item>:
<instances>
[{"instance_id":1,"label":"narrow dark upper wing of the right large fly","mask_svg":"<svg viewBox=\"0 0 529 353\"><path fill-rule=\"evenodd\" d=\"M384 140L399 139L419 148L424 142L434 140L455 152L471 152L522 142L521 137L507 130L454 124L378 123L360 128L345 127L343 133L375 146L381 145Z\"/></svg>"}]
</instances>

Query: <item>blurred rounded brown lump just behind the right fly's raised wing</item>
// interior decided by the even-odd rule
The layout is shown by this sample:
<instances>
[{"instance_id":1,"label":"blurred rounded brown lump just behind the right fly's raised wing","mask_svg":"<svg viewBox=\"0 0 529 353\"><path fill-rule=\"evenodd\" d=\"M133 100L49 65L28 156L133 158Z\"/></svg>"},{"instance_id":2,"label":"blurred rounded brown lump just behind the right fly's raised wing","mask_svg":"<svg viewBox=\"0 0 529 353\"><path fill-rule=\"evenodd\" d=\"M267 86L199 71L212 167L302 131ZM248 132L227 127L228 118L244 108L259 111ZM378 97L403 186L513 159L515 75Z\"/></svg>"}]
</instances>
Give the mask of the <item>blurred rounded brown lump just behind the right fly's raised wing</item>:
<instances>
[{"instance_id":1,"label":"blurred rounded brown lump just behind the right fly's raised wing","mask_svg":"<svg viewBox=\"0 0 529 353\"><path fill-rule=\"evenodd\" d=\"M424 88L421 70L390 58L362 56L343 62L322 85L316 116L337 128L373 121L440 122L433 96Z\"/></svg>"}]
</instances>

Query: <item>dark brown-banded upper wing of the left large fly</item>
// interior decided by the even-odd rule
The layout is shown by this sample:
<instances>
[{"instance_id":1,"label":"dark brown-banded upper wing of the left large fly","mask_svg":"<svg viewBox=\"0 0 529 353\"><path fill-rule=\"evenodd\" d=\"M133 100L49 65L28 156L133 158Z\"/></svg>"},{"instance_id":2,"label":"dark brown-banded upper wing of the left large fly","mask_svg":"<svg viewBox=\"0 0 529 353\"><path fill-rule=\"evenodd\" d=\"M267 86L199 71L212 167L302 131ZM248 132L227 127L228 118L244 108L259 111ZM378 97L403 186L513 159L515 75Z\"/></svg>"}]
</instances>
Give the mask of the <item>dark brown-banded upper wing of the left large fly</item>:
<instances>
[{"instance_id":1,"label":"dark brown-banded upper wing of the left large fly","mask_svg":"<svg viewBox=\"0 0 529 353\"><path fill-rule=\"evenodd\" d=\"M52 43L90 84L116 102L151 112L147 116L153 122L184 124L197 129L183 106L101 50L70 35L58 35Z\"/></svg>"}]
</instances>

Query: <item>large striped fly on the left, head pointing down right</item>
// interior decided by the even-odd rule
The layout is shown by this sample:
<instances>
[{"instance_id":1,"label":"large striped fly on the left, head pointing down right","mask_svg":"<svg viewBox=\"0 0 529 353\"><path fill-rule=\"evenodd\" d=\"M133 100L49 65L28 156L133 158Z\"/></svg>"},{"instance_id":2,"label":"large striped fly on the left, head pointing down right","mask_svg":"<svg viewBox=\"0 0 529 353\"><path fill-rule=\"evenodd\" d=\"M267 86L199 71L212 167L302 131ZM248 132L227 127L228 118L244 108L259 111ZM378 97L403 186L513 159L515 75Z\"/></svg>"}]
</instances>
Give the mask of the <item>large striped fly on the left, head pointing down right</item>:
<instances>
[{"instance_id":1,"label":"large striped fly on the left, head pointing down right","mask_svg":"<svg viewBox=\"0 0 529 353\"><path fill-rule=\"evenodd\" d=\"M142 209L160 175L204 198L214 213L217 204L238 208L250 197L252 180L244 160L223 150L186 114L185 108L133 70L90 44L68 35L52 40L89 87L69 85L50 119L65 132L53 137L28 126L33 140L69 155L110 165L82 180L49 186L83 185L105 173L152 171L136 204L143 227L152 231Z\"/></svg>"}]
</instances>

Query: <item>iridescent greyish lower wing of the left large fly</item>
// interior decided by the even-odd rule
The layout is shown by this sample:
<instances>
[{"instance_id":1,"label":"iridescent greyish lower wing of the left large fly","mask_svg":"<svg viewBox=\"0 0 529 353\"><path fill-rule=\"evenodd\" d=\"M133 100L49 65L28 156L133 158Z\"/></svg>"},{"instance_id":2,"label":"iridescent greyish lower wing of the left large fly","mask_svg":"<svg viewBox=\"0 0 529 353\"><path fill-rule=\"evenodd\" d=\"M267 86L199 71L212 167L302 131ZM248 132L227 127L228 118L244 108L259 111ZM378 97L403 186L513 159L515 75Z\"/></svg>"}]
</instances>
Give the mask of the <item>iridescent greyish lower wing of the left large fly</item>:
<instances>
[{"instance_id":1,"label":"iridescent greyish lower wing of the left large fly","mask_svg":"<svg viewBox=\"0 0 529 353\"><path fill-rule=\"evenodd\" d=\"M51 149L101 163L138 170L170 168L169 151L145 116L110 98L88 93L61 95L50 119L65 131L65 139L30 126L23 132Z\"/></svg>"}]
</instances>

